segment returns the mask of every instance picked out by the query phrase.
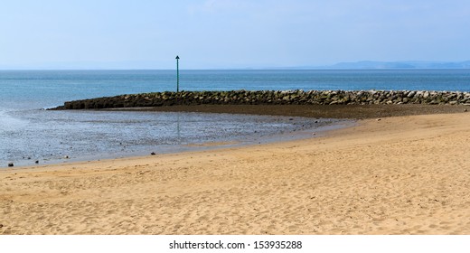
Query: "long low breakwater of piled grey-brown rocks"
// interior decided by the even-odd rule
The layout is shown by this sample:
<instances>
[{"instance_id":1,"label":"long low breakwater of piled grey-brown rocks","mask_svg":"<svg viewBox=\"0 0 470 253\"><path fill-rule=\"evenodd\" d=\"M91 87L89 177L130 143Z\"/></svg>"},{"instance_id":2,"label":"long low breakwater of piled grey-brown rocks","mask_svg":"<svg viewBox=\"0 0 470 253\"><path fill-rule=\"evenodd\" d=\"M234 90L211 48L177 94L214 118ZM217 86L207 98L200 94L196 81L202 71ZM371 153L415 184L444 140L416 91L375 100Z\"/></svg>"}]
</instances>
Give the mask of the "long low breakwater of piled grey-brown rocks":
<instances>
[{"instance_id":1,"label":"long low breakwater of piled grey-brown rocks","mask_svg":"<svg viewBox=\"0 0 470 253\"><path fill-rule=\"evenodd\" d=\"M141 108L175 105L467 105L470 92L416 90L232 90L154 92L65 102L54 109Z\"/></svg>"}]
</instances>

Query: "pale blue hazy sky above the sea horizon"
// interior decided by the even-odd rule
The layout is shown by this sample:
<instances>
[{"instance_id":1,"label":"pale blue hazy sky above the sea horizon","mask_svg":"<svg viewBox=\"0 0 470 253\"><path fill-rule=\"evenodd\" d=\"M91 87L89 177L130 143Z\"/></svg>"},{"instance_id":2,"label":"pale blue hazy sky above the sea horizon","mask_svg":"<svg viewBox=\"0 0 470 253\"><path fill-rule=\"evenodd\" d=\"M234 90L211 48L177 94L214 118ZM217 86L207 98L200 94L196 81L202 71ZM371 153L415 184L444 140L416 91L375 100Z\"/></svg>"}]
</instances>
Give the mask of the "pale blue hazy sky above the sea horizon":
<instances>
[{"instance_id":1,"label":"pale blue hazy sky above the sea horizon","mask_svg":"<svg viewBox=\"0 0 470 253\"><path fill-rule=\"evenodd\" d=\"M468 0L2 0L1 69L470 60Z\"/></svg>"}]
</instances>

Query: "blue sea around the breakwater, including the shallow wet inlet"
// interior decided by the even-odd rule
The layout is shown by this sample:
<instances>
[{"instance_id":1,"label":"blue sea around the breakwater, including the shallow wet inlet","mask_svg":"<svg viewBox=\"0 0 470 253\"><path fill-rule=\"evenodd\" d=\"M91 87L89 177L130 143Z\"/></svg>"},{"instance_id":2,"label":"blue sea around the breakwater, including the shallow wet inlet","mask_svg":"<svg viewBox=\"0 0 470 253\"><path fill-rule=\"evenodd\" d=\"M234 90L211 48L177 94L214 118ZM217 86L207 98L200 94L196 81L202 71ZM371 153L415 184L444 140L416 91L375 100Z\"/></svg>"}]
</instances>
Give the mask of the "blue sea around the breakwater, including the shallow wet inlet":
<instances>
[{"instance_id":1,"label":"blue sea around the breakwater, including the shallow wet inlet","mask_svg":"<svg viewBox=\"0 0 470 253\"><path fill-rule=\"evenodd\" d=\"M470 70L180 70L179 74L180 90L470 91ZM351 124L304 117L46 110L75 99L174 90L175 70L0 70L0 167L259 144Z\"/></svg>"}]
</instances>

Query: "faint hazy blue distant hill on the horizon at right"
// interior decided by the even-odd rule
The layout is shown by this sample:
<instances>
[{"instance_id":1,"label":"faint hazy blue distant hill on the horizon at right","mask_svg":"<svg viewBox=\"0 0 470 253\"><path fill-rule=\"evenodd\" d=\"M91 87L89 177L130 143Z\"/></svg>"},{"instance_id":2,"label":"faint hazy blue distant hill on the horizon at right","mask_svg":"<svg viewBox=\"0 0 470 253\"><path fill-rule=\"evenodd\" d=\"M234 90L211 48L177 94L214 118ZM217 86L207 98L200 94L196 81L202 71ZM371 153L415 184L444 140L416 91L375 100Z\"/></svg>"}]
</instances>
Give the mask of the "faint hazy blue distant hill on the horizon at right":
<instances>
[{"instance_id":1,"label":"faint hazy blue distant hill on the horizon at right","mask_svg":"<svg viewBox=\"0 0 470 253\"><path fill-rule=\"evenodd\" d=\"M320 69L470 69L470 61L356 61L340 62Z\"/></svg>"}]
</instances>

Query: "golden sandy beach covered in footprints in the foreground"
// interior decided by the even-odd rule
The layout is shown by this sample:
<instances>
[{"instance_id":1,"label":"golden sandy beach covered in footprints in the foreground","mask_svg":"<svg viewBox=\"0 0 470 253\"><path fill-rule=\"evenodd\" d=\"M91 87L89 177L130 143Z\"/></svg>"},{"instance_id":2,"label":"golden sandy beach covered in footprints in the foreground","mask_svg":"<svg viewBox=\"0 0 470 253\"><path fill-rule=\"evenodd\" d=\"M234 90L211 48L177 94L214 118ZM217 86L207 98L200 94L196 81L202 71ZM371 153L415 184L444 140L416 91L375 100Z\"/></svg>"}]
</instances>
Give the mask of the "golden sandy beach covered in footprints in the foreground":
<instances>
[{"instance_id":1,"label":"golden sandy beach covered in footprints in the foreground","mask_svg":"<svg viewBox=\"0 0 470 253\"><path fill-rule=\"evenodd\" d=\"M2 169L0 234L470 234L470 113L450 112L356 116L284 143Z\"/></svg>"}]
</instances>

